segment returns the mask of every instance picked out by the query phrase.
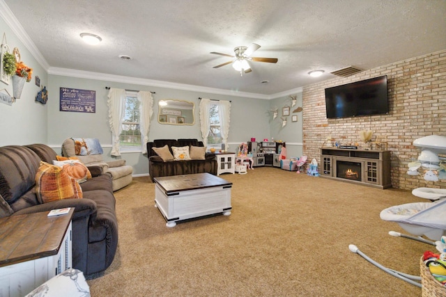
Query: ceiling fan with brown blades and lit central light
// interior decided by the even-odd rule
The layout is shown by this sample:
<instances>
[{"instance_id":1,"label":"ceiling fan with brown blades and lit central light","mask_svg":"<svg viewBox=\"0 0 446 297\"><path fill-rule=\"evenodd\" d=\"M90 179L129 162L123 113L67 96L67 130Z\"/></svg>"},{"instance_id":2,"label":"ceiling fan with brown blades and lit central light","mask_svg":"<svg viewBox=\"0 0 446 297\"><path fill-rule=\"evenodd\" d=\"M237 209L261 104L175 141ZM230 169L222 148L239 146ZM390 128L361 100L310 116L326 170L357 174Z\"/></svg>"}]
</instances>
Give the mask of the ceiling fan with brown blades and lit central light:
<instances>
[{"instance_id":1,"label":"ceiling fan with brown blades and lit central light","mask_svg":"<svg viewBox=\"0 0 446 297\"><path fill-rule=\"evenodd\" d=\"M259 58L259 57L252 57L251 55L254 53L254 51L256 51L257 49L260 48L260 45L257 45L256 43L252 43L251 45L249 45L249 47L236 47L234 48L234 54L233 55L229 55L229 54L222 54L222 53L217 53L216 51L211 51L210 54L215 54L215 55L220 55L220 56L227 56L227 57L231 57L233 58L233 60L228 61L226 63L214 66L213 68L219 68L222 67L224 65L228 65L232 63L232 67L237 70L240 71L240 75L243 74L243 72L245 73L249 73L252 72L251 67L249 66L249 62L266 62L266 63L277 63L277 58Z\"/></svg>"}]
</instances>

